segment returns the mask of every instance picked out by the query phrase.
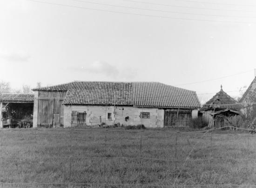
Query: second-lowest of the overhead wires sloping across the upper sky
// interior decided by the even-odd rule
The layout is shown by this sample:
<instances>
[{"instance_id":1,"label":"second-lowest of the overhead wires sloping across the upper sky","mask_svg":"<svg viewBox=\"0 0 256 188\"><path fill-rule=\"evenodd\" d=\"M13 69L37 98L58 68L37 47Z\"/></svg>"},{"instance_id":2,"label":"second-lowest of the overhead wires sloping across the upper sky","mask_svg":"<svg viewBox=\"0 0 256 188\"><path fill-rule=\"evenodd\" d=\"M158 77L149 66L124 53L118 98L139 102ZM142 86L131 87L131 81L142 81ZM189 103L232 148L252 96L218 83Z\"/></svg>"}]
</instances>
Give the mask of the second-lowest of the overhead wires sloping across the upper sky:
<instances>
[{"instance_id":1,"label":"second-lowest of the overhead wires sloping across the upper sky","mask_svg":"<svg viewBox=\"0 0 256 188\"><path fill-rule=\"evenodd\" d=\"M216 17L229 17L229 18L256 18L255 16L229 16L229 15L215 15L215 14L199 14L199 13L182 13L176 11L164 11L159 9L148 9L148 8L138 8L138 7L131 7L131 6L119 6L119 5L112 5L112 4L104 4L104 3L97 3L85 0L71 0L76 2L83 2L95 5L103 5L103 6L113 6L113 7L121 7L121 8L129 8L129 9L136 9L136 10L143 10L143 11L156 11L162 13L178 13L178 14L189 14L189 15L200 15L200 16L216 16Z\"/></svg>"}]
</instances>

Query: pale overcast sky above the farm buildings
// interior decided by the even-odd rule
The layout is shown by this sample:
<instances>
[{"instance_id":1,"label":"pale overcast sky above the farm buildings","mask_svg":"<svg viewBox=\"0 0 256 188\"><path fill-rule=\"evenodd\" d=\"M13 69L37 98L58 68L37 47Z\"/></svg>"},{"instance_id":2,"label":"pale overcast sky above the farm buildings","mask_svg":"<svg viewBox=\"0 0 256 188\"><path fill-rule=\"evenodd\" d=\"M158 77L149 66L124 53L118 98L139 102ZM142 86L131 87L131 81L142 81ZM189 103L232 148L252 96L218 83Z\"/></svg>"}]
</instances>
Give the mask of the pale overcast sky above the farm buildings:
<instances>
[{"instance_id":1,"label":"pale overcast sky above the farm buildings","mask_svg":"<svg viewBox=\"0 0 256 188\"><path fill-rule=\"evenodd\" d=\"M67 6L0 0L0 81L12 88L159 81L194 90L204 102L221 84L237 97L254 78L254 0L35 1Z\"/></svg>"}]
</instances>

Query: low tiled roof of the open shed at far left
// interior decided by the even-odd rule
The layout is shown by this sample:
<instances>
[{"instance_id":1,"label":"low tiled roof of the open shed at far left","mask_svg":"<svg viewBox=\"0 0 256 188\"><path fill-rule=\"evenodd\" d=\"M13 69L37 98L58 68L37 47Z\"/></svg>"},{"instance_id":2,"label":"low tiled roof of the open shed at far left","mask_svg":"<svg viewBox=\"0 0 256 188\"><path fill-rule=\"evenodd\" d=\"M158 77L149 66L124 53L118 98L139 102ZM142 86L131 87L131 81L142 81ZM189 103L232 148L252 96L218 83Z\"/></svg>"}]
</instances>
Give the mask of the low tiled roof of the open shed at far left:
<instances>
[{"instance_id":1,"label":"low tiled roof of the open shed at far left","mask_svg":"<svg viewBox=\"0 0 256 188\"><path fill-rule=\"evenodd\" d=\"M0 94L0 102L34 102L34 94Z\"/></svg>"}]
</instances>

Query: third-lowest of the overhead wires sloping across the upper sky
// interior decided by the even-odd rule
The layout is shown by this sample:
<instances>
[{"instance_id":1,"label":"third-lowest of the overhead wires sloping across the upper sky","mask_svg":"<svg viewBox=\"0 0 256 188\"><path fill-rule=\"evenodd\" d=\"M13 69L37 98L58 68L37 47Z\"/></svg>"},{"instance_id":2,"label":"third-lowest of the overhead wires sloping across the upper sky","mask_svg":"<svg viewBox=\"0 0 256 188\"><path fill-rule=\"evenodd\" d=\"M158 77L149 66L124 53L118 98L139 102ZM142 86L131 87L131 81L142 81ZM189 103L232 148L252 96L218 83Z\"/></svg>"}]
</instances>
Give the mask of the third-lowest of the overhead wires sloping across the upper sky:
<instances>
[{"instance_id":1,"label":"third-lowest of the overhead wires sloping across the upper sky","mask_svg":"<svg viewBox=\"0 0 256 188\"><path fill-rule=\"evenodd\" d=\"M230 10L230 9L218 9L218 8L201 8L201 7L191 7L191 6L179 6L179 5L150 3L150 2L135 1L135 0L123 0L123 1L128 1L128 2L133 2L133 3L143 3L143 4L149 4L149 5L171 6L171 7L181 7L181 8L192 8L192 9L201 9L201 10L234 11L234 12L245 12L245 13L256 13L256 11Z\"/></svg>"}]
</instances>

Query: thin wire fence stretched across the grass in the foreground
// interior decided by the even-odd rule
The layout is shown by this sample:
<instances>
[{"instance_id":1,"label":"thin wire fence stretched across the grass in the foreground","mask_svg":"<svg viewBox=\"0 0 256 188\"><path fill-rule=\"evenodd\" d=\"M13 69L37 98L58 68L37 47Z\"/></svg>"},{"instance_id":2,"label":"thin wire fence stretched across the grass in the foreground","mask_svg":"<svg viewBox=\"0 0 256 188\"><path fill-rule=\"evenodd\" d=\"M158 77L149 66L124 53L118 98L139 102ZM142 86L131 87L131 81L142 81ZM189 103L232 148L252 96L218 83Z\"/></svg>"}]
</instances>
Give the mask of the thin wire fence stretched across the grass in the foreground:
<instances>
[{"instance_id":1,"label":"thin wire fence stretched across the grass in the foreground","mask_svg":"<svg viewBox=\"0 0 256 188\"><path fill-rule=\"evenodd\" d=\"M142 122L141 122L142 125ZM225 128L236 128L237 130L243 130L243 131L254 131L253 129L246 129L246 128L240 128L240 127L234 127L234 126L224 126L224 127L219 127L219 128L214 128L214 129L209 129L209 130L203 130L203 131L192 131L192 132L187 132L187 131L166 131L166 130L162 130L162 131L158 131L158 130L139 130L135 131L135 130L123 130L123 129L119 129L119 130L115 130L115 129L74 129L74 128L70 128L70 129L51 129L51 130L65 130L65 131L69 131L69 136L70 136L70 143L69 143L69 156L57 156L57 157L43 157L43 156L36 156L34 155L34 153L32 153L32 146L30 146L29 151L30 151L30 155L29 156L4 156L3 155L3 135L5 134L5 131L17 131L17 129L2 129L0 130L0 164L1 166L3 166L3 159L27 159L30 161L31 165L33 163L33 160L35 159L68 159L69 161L69 169L68 169L68 177L69 177L69 182L0 182L0 187L5 187L5 185L27 185L27 186L36 186L36 185L67 185L67 186L131 186L131 187L135 187L135 186L139 186L139 187L168 187L168 188L186 188L186 187L239 187L241 185L239 184L211 184L212 181L212 174L210 172L210 177L209 177L209 184L195 184L195 185L186 185L186 184L178 184L178 178L182 172L182 169L185 167L186 163L188 162L201 162L201 161L209 161L210 164L210 169L212 169L212 164L213 162L220 162L220 161L228 161L228 160L233 160L233 161L256 161L256 158L232 158L232 157L225 157L225 158L217 158L217 157L213 157L213 132L216 130L221 130L221 129L225 129ZM19 131L21 131L23 129L19 129ZM31 129L27 129L27 131L29 131ZM41 131L45 129L32 129L32 134L34 134L34 139L36 141L37 139L37 132ZM109 144L107 143L107 136L109 136L109 132L137 132L140 134L139 136L139 157L124 157L124 156L120 156L120 157L98 157L98 156L87 156L87 157L77 157L73 155L73 151L72 151L72 140L74 139L74 137L72 137L72 132L81 132L81 131L105 131L104 133L104 146L105 148L109 147ZM147 133L147 132L158 132L158 133L165 133L165 134L169 134L169 135L173 135L175 134L175 151L174 151L174 158L169 157L168 159L161 159L161 158L154 158L154 157L143 157L142 156L142 133ZM190 143L189 138L187 138L187 142L188 145L191 147L191 150L189 151L188 155L183 158L183 159L178 159L178 151L177 151L177 146L178 146L178 142L179 142L179 135L180 134L190 134L193 135L193 138L195 136L195 133L203 133L200 138L202 139L207 133L210 133L210 157L208 158L190 158L191 153L195 150L195 147L200 144L200 142L195 143L194 145ZM247 136L247 142L246 142L246 148L247 150L249 150L249 142L250 142L250 135ZM94 135L94 140L95 140L95 135ZM36 141L37 142L37 141ZM33 144L34 146L34 150L37 150L36 144ZM124 160L139 160L139 175L140 175L140 179L142 178L142 161L143 160L148 160L148 161L162 161L162 162L167 162L167 163L174 163L175 165L175 171L177 171L178 169L178 163L182 163L182 165L180 166L179 169L179 173L175 176L175 180L172 183L172 185L164 185L164 184L157 184L157 183L75 183L72 182L72 161L74 159L84 159L84 160L114 160L114 159L124 159ZM106 171L106 166L104 166L104 171ZM171 169L170 169L171 170ZM247 186L247 185L245 185ZM256 187L256 185L248 185L249 187Z\"/></svg>"}]
</instances>

